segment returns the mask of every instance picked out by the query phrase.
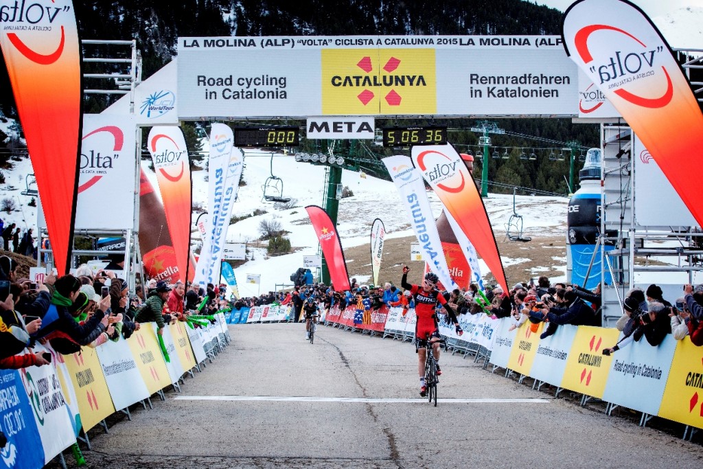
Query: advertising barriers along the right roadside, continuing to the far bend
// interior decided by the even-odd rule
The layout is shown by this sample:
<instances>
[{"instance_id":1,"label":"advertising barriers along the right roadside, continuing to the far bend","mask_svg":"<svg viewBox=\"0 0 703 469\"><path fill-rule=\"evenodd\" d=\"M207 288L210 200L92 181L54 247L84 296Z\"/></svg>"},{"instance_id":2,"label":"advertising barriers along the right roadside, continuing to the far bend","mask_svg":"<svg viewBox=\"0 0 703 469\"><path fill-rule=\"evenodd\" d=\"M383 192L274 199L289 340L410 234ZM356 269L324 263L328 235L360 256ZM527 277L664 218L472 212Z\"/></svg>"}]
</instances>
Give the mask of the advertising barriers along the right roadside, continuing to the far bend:
<instances>
[{"instance_id":1,"label":"advertising barriers along the right roadside, continuing to the far bend","mask_svg":"<svg viewBox=\"0 0 703 469\"><path fill-rule=\"evenodd\" d=\"M233 309L228 323L266 323L292 321L290 305L270 304ZM461 337L440 315L440 333L447 339L452 354L473 356L492 365L518 382L531 379L532 388L552 386L555 397L567 390L580 394L580 405L605 403L605 412L612 415L618 407L641 413L640 426L654 417L685 425L683 439L690 441L703 428L703 347L696 347L688 335L683 340L666 336L657 347L646 340L632 342L610 356L602 349L612 347L622 333L616 328L594 326L558 326L556 333L540 338L546 328L539 323L533 330L526 322L511 329L511 318L492 319L486 314L461 314ZM401 342L415 338L415 310L381 307L375 311L357 311L332 307L321 311L320 322L362 335L378 335ZM534 325L533 325L534 326Z\"/></svg>"}]
</instances>

